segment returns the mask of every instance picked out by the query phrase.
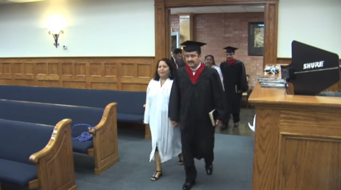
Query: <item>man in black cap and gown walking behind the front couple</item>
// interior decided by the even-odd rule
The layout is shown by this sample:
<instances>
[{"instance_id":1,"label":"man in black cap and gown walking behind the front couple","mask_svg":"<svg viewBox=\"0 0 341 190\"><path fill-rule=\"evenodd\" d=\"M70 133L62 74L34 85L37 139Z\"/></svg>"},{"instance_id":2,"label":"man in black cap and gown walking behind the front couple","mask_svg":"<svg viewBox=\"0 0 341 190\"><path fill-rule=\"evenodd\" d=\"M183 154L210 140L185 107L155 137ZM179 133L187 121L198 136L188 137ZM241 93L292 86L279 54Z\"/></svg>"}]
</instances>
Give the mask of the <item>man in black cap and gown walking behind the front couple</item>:
<instances>
[{"instance_id":1,"label":"man in black cap and gown walking behind the front couple","mask_svg":"<svg viewBox=\"0 0 341 190\"><path fill-rule=\"evenodd\" d=\"M238 49L230 46L224 49L226 50L226 61L220 64L220 69L224 78L227 116L224 125L221 126L223 130L228 127L230 115L232 115L234 127L239 126L243 92L248 90L244 63L234 57L234 53Z\"/></svg>"}]
</instances>

